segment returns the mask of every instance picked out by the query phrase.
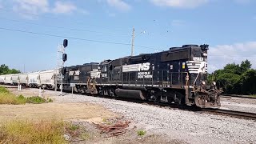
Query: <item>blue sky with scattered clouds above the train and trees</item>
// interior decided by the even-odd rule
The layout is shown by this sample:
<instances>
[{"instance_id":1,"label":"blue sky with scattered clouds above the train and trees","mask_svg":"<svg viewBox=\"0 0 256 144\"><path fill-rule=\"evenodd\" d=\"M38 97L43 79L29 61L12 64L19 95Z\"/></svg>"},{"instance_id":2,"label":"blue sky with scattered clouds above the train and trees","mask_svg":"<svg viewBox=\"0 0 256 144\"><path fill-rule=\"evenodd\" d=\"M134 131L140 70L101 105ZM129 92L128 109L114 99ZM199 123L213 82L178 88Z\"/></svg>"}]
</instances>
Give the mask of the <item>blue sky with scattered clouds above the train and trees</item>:
<instances>
[{"instance_id":1,"label":"blue sky with scattered clouds above the train and trees","mask_svg":"<svg viewBox=\"0 0 256 144\"><path fill-rule=\"evenodd\" d=\"M255 7L255 0L0 0L0 63L52 69L64 38L66 66L124 57L134 27L135 54L206 43L210 72L246 58L255 68Z\"/></svg>"}]
</instances>

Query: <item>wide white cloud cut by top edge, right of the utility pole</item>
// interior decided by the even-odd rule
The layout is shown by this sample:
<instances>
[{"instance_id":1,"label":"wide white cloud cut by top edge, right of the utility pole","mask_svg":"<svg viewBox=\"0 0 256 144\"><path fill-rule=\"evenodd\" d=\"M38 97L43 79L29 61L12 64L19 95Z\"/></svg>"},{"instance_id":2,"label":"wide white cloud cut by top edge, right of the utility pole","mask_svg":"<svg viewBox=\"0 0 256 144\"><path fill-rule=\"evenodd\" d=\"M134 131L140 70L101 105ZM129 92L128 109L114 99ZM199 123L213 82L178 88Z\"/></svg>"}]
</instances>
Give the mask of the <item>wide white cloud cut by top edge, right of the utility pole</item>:
<instances>
[{"instance_id":1,"label":"wide white cloud cut by top edge, right of the utility pole","mask_svg":"<svg viewBox=\"0 0 256 144\"><path fill-rule=\"evenodd\" d=\"M180 8L194 8L202 6L209 2L209 0L150 0L156 6L169 6Z\"/></svg>"}]
</instances>

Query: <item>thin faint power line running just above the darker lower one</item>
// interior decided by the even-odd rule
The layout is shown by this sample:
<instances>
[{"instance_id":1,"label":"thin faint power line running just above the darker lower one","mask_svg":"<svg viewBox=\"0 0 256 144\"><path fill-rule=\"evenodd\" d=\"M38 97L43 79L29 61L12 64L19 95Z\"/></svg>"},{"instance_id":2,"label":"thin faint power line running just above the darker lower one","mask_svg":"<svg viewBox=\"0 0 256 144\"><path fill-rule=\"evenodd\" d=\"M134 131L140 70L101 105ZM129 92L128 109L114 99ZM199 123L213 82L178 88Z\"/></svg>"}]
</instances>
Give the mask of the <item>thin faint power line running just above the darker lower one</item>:
<instances>
[{"instance_id":1,"label":"thin faint power line running just above the darker lower one","mask_svg":"<svg viewBox=\"0 0 256 144\"><path fill-rule=\"evenodd\" d=\"M98 34L114 34L114 35L130 36L129 34L106 33L106 32L94 31L94 30L82 30L82 29L68 28L68 27L63 27L63 26L42 25L42 24L38 24L35 22L24 22L24 21L19 21L19 20L15 20L15 19L9 19L9 18L1 18L1 19L5 19L8 21L12 21L12 22L20 22L20 23L26 23L26 24L30 24L30 25L45 26L45 27L65 29L65 30L84 31L84 32L98 33Z\"/></svg>"}]
</instances>

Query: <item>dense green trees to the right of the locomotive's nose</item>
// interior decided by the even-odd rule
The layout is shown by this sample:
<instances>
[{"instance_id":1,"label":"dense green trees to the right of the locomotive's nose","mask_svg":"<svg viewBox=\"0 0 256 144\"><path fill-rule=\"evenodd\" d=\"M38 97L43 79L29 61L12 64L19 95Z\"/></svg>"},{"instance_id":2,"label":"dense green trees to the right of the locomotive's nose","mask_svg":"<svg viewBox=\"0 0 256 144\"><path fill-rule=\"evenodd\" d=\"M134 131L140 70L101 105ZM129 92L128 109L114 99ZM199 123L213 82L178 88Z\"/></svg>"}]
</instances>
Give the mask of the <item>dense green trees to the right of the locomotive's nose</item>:
<instances>
[{"instance_id":1,"label":"dense green trees to the right of the locomotive's nose","mask_svg":"<svg viewBox=\"0 0 256 144\"><path fill-rule=\"evenodd\" d=\"M208 75L208 82L216 82L224 94L256 94L256 70L246 59L241 64L230 63Z\"/></svg>"}]
</instances>

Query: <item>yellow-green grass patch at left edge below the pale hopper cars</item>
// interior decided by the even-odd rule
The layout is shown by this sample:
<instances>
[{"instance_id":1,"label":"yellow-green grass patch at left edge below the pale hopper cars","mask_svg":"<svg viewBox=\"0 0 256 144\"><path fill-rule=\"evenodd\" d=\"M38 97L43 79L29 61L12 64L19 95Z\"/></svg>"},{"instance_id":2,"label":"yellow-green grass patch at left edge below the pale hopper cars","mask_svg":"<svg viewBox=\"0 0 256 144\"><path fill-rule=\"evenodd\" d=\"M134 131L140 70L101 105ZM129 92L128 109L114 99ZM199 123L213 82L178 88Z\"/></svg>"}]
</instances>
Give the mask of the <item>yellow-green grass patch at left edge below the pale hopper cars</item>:
<instances>
[{"instance_id":1,"label":"yellow-green grass patch at left edge below the pale hopper cars","mask_svg":"<svg viewBox=\"0 0 256 144\"><path fill-rule=\"evenodd\" d=\"M25 98L23 95L14 95L10 93L8 89L3 86L0 86L0 104L12 104L12 105L22 105L26 103L46 103L46 102L53 102L51 98L41 98L41 97L29 97Z\"/></svg>"}]
</instances>

